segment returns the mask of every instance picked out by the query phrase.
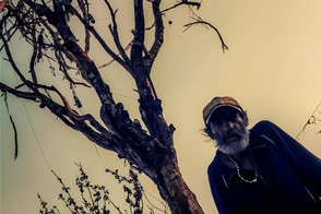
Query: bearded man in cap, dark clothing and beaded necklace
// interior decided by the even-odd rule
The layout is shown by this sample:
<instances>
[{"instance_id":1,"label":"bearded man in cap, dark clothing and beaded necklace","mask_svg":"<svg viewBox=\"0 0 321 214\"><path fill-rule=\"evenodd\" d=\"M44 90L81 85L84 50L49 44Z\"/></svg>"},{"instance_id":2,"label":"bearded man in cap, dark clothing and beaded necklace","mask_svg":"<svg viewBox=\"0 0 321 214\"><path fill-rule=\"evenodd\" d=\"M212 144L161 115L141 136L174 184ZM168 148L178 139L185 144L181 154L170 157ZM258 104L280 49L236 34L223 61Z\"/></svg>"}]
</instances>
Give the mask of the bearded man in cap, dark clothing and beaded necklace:
<instances>
[{"instance_id":1,"label":"bearded man in cap, dark clothing and beaded necklace","mask_svg":"<svg viewBox=\"0 0 321 214\"><path fill-rule=\"evenodd\" d=\"M221 214L321 214L318 157L270 121L248 130L231 97L214 97L203 119L217 145L207 174Z\"/></svg>"}]
</instances>

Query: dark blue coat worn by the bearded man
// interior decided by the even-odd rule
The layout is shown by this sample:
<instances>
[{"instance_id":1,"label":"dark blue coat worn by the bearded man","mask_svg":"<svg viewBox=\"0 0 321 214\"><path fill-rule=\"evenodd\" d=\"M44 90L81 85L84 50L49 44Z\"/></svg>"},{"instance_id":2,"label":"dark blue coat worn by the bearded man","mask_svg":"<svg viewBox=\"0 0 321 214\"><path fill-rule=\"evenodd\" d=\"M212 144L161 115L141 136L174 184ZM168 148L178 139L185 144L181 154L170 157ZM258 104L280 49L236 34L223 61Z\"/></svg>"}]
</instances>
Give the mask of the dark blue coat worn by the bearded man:
<instances>
[{"instance_id":1,"label":"dark blue coat worn by the bearded man","mask_svg":"<svg viewBox=\"0 0 321 214\"><path fill-rule=\"evenodd\" d=\"M247 183L217 151L209 180L219 214L321 214L321 160L270 121L250 130L259 180ZM247 171L241 171L246 175Z\"/></svg>"}]
</instances>

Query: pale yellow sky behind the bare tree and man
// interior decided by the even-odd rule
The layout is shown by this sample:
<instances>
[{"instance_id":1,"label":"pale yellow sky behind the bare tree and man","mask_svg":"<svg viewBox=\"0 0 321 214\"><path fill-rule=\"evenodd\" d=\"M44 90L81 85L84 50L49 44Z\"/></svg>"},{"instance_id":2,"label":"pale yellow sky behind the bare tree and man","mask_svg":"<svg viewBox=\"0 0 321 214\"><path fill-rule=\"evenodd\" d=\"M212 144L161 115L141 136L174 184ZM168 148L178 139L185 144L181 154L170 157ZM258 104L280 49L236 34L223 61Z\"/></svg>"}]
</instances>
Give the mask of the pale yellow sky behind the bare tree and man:
<instances>
[{"instance_id":1,"label":"pale yellow sky behind the bare tree and man","mask_svg":"<svg viewBox=\"0 0 321 214\"><path fill-rule=\"evenodd\" d=\"M219 28L229 47L225 54L211 29L198 26L182 33L181 25L189 15L187 10L179 10L179 15L166 15L165 22L171 20L173 25L166 24L164 48L152 78L163 100L166 120L177 128L175 147L181 173L206 214L216 213L206 177L215 146L206 142L200 131L203 128L203 106L213 96L230 95L248 110L250 126L268 119L296 136L321 100L320 9L319 0L204 1L200 14ZM99 7L96 10L102 15L97 25L106 32L104 11ZM126 20L127 16L121 17ZM127 21L123 31L131 24ZM128 32L122 37L123 44L130 40L130 36ZM26 64L20 47L16 46L15 51L17 61ZM100 55L91 57L97 64L109 60ZM1 62L1 81L15 83L15 78L8 74L7 62ZM39 68L44 70L41 79L48 81L50 72ZM117 64L102 69L102 72L115 97L128 106L132 118L138 118L136 94L130 76ZM69 93L67 84L60 87ZM83 110L98 115L93 92L82 94L79 90L79 93L84 103ZM49 173L46 160L70 186L78 173L74 162L81 162L90 177L106 186L112 179L104 174L104 169L122 167L123 162L115 154L97 148L97 155L92 143L69 130L48 110L13 97L9 97L9 102L19 129L20 154L13 160L13 131L1 99L2 214L37 213L37 192L48 202L61 205L57 202L59 183ZM316 134L319 130L320 123L319 127L308 127L300 143L321 157L321 135ZM151 183L146 187L151 194L157 195Z\"/></svg>"}]
</instances>

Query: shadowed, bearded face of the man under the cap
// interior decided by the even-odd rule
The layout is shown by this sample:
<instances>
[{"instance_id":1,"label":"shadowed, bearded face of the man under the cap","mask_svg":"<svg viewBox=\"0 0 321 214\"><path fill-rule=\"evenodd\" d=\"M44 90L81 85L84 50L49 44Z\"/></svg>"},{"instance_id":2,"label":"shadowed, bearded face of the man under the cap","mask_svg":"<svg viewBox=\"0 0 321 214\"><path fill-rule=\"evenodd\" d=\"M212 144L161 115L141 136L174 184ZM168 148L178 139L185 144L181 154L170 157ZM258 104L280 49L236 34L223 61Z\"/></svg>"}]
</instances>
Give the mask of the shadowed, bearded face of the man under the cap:
<instances>
[{"instance_id":1,"label":"shadowed, bearded face of the man under the cap","mask_svg":"<svg viewBox=\"0 0 321 214\"><path fill-rule=\"evenodd\" d=\"M210 120L210 127L218 150L224 153L237 154L249 145L247 122L236 109L217 109Z\"/></svg>"}]
</instances>

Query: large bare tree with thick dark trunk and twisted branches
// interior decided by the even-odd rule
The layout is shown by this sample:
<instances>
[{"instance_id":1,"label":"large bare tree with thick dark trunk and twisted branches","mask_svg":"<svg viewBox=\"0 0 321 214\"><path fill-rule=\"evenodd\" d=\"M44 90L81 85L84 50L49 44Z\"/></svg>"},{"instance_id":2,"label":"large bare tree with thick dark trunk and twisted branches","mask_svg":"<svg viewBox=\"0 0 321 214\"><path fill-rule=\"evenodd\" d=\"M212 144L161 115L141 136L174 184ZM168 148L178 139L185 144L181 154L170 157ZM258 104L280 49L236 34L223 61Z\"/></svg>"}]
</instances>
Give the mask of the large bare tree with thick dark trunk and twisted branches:
<instances>
[{"instance_id":1,"label":"large bare tree with thick dark trunk and twisted branches","mask_svg":"<svg viewBox=\"0 0 321 214\"><path fill-rule=\"evenodd\" d=\"M92 3L98 2L95 0ZM114 43L110 46L95 28L95 17L90 10L88 0L73 2L72 0L19 0L15 3L4 0L0 2L1 51L5 52L5 60L10 62L20 81L15 86L0 82L0 88L4 99L9 93L38 103L40 108L48 108L67 126L80 131L93 143L117 153L120 158L126 158L132 167L143 171L154 181L171 213L203 213L195 195L182 179L173 142L175 127L166 122L162 102L151 80L153 63L164 41L165 12L179 7L189 7L193 10L201 4L181 0L169 8L162 9L160 3L162 0L133 0L133 38L129 45L123 45L118 31L118 10L114 9L109 0L99 1L99 4L109 11L109 38ZM144 7L151 7L152 26L145 26ZM72 31L71 17L83 25L83 39L80 39L79 34ZM203 22L199 16L194 15L193 19L187 27L201 23L217 32L213 25ZM154 32L150 47L145 41L146 31ZM27 69L21 68L12 55L11 41L14 36L24 38L31 47L31 52L26 54L26 57L29 57ZM227 48L221 35L219 38L223 49ZM109 85L99 73L99 67L91 59L92 40L95 40L105 54L134 80L142 122L131 119L123 104L114 99ZM58 68L66 81L69 81L78 108L82 107L82 103L75 93L75 87L95 91L102 105L100 118L73 109L70 100L57 85L39 81L36 64L43 63L44 59L52 72ZM83 81L74 79L75 71L81 74Z\"/></svg>"}]
</instances>

